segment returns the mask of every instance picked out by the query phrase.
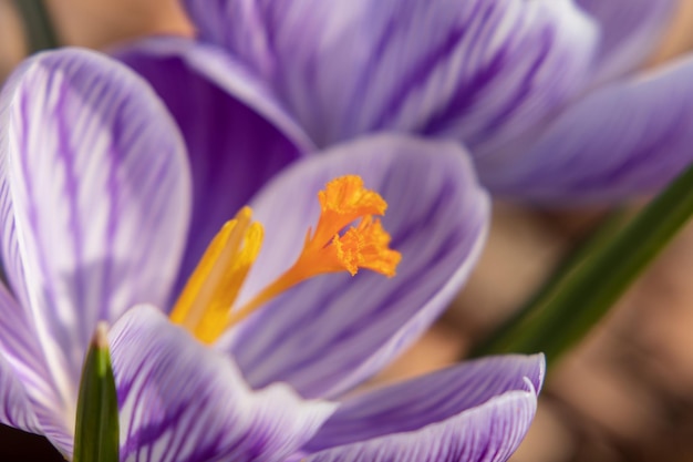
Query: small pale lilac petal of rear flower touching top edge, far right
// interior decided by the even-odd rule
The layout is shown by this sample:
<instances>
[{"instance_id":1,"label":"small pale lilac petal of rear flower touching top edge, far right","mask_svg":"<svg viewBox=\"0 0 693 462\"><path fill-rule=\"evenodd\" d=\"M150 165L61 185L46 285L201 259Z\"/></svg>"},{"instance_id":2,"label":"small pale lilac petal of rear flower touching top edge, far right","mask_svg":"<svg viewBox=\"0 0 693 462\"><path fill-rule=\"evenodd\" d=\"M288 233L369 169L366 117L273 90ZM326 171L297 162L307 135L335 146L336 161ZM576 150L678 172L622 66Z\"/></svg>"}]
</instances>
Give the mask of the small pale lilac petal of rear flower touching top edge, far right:
<instances>
[{"instance_id":1,"label":"small pale lilac petal of rear flower touching top edge, far right","mask_svg":"<svg viewBox=\"0 0 693 462\"><path fill-rule=\"evenodd\" d=\"M577 0L600 25L594 81L642 65L670 24L679 0Z\"/></svg>"}]
</instances>

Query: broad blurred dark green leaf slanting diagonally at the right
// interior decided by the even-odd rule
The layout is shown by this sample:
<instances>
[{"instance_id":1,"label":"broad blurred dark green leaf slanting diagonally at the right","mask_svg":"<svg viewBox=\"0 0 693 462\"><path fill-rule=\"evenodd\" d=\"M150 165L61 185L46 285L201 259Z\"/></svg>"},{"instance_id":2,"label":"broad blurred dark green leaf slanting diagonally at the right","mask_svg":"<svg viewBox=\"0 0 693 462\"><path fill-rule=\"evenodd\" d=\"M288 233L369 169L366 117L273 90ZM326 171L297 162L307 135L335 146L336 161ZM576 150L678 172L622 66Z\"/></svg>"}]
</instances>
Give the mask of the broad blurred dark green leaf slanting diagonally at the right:
<instances>
[{"instance_id":1,"label":"broad blurred dark green leaf slanting diagonally at the right","mask_svg":"<svg viewBox=\"0 0 693 462\"><path fill-rule=\"evenodd\" d=\"M580 341L693 215L693 166L630 223L608 220L526 309L472 356L544 351L551 366Z\"/></svg>"}]
</instances>

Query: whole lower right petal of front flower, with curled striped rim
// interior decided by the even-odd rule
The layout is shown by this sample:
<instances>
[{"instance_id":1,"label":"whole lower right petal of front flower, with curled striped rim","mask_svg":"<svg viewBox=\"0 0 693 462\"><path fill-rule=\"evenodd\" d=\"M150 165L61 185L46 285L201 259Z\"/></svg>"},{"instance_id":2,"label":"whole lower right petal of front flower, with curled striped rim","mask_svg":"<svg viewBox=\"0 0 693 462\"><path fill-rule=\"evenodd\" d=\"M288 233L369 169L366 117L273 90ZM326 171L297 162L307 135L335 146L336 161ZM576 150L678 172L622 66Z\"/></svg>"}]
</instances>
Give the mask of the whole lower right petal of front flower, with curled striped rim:
<instances>
[{"instance_id":1,"label":"whole lower right petal of front flower, with curled striped rim","mask_svg":"<svg viewBox=\"0 0 693 462\"><path fill-rule=\"evenodd\" d=\"M506 461L537 407L544 358L451 368L346 401L309 443L307 462Z\"/></svg>"}]
</instances>

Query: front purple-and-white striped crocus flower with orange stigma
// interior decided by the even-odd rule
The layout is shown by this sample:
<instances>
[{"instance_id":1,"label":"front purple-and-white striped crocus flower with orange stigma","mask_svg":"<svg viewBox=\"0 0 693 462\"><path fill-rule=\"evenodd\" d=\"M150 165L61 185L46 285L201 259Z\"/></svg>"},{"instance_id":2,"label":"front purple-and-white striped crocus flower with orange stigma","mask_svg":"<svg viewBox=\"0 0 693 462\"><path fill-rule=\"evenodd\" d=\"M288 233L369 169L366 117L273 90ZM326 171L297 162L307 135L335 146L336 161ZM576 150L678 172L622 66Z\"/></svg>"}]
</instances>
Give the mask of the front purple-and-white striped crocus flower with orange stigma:
<instances>
[{"instance_id":1,"label":"front purple-and-white striped crocus flower with orange stigma","mask_svg":"<svg viewBox=\"0 0 693 462\"><path fill-rule=\"evenodd\" d=\"M241 158L248 147L219 146ZM297 160L268 184L211 155L193 160L208 166L200 177L127 68L81 50L34 57L0 95L0 422L69 458L82 359L105 320L124 461L506 460L534 415L539 356L343 396L466 279L488 219L466 158L455 143L383 135ZM250 208L209 244L200 217L251 185ZM200 247L194 270L185 255ZM395 277L366 270L392 276L392 248ZM358 274L331 273L338 258ZM207 324L226 304L239 309L225 329Z\"/></svg>"}]
</instances>

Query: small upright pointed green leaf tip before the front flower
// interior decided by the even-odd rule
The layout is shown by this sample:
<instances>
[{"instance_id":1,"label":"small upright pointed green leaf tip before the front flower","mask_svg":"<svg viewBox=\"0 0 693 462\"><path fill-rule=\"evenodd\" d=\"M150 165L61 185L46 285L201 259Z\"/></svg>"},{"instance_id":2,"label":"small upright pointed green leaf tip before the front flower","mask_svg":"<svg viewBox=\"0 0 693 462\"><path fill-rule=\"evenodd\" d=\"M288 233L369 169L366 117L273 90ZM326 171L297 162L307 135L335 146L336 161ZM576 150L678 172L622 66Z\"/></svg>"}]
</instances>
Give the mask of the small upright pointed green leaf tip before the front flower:
<instances>
[{"instance_id":1,"label":"small upright pointed green leaf tip before the front flower","mask_svg":"<svg viewBox=\"0 0 693 462\"><path fill-rule=\"evenodd\" d=\"M82 369L74 432L74 462L118 462L118 413L107 327L94 332Z\"/></svg>"}]
</instances>

